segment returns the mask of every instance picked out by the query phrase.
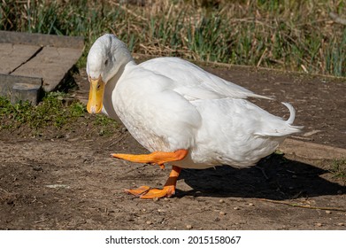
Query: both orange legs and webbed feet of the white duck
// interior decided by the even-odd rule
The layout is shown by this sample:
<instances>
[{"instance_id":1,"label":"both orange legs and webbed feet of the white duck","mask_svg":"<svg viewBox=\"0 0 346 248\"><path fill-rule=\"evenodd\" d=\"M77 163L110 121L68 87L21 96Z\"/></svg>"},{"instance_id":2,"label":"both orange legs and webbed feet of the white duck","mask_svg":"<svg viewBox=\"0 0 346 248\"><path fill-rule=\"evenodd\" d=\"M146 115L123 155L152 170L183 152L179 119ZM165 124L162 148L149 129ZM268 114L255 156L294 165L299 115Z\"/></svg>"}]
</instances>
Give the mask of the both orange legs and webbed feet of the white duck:
<instances>
[{"instance_id":1,"label":"both orange legs and webbed feet of the white duck","mask_svg":"<svg viewBox=\"0 0 346 248\"><path fill-rule=\"evenodd\" d=\"M117 159L126 159L131 162L158 164L158 166L164 167L164 163L184 159L187 154L188 150L181 149L173 152L155 151L146 155L111 154L111 156ZM181 167L173 166L172 172L169 175L167 182L165 182L165 186L162 190L150 188L149 186L142 186L135 190L126 190L126 192L146 199L165 197L169 198L173 196L175 192L175 185L180 173Z\"/></svg>"}]
</instances>

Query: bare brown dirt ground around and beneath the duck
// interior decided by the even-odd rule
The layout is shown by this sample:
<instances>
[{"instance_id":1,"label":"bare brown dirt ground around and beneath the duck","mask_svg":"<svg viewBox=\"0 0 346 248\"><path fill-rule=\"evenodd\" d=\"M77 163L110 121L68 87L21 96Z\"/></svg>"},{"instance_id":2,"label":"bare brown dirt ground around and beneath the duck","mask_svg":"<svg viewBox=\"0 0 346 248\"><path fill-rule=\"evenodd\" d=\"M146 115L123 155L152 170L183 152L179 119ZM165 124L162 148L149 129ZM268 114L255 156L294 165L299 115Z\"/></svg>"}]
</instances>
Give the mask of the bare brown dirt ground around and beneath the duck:
<instances>
[{"instance_id":1,"label":"bare brown dirt ground around and beneath the duck","mask_svg":"<svg viewBox=\"0 0 346 248\"><path fill-rule=\"evenodd\" d=\"M296 125L305 126L294 138L346 148L344 79L239 66L208 70L294 105ZM74 95L85 101L85 72L75 81ZM258 104L288 118L278 102ZM0 229L346 229L346 186L327 159L273 154L248 169L184 169L173 198L142 200L123 190L160 187L170 167L111 159L111 152L146 152L126 128L98 136L81 119L41 137L2 131L0 148Z\"/></svg>"}]
</instances>

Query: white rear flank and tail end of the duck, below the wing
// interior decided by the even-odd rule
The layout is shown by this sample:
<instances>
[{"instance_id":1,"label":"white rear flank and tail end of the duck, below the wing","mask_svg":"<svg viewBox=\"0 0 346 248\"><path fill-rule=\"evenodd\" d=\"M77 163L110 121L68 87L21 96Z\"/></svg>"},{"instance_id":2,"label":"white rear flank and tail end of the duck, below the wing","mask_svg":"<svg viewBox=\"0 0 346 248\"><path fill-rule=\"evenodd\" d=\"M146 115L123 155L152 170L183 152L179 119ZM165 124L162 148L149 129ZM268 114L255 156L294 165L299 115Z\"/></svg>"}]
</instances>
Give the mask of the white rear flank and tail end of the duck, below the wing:
<instances>
[{"instance_id":1,"label":"white rear flank and tail end of the duck, below the wing","mask_svg":"<svg viewBox=\"0 0 346 248\"><path fill-rule=\"evenodd\" d=\"M250 167L273 153L287 136L300 131L290 120L244 99L198 100L193 105L202 116L202 126L191 149L191 160L183 161L181 167Z\"/></svg>"}]
</instances>

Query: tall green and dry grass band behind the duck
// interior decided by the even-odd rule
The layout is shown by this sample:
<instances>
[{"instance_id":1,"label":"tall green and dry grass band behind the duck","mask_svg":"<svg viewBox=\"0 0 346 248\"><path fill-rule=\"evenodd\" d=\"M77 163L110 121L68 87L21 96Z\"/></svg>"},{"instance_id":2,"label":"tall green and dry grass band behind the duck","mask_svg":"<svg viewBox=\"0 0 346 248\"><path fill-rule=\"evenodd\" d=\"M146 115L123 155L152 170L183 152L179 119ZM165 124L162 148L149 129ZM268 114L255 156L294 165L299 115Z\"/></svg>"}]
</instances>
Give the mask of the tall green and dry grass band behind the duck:
<instances>
[{"instance_id":1,"label":"tall green and dry grass band behind the duck","mask_svg":"<svg viewBox=\"0 0 346 248\"><path fill-rule=\"evenodd\" d=\"M331 12L345 19L346 2L2 0L0 29L83 35L79 66L99 35L114 33L148 55L346 76L346 26Z\"/></svg>"}]
</instances>

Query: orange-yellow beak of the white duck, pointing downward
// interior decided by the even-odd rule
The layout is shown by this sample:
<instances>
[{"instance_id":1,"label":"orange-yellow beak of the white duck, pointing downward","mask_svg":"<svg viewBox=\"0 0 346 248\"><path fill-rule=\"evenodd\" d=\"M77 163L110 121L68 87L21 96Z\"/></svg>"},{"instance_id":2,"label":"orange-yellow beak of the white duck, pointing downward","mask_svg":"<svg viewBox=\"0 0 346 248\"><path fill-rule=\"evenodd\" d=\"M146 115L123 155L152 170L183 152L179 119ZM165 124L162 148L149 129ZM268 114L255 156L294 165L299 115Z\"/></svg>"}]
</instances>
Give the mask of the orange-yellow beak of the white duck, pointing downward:
<instances>
[{"instance_id":1,"label":"orange-yellow beak of the white duck, pointing downward","mask_svg":"<svg viewBox=\"0 0 346 248\"><path fill-rule=\"evenodd\" d=\"M94 80L89 78L90 90L88 92L87 110L89 113L99 113L102 110L104 101L104 86L101 75Z\"/></svg>"}]
</instances>

